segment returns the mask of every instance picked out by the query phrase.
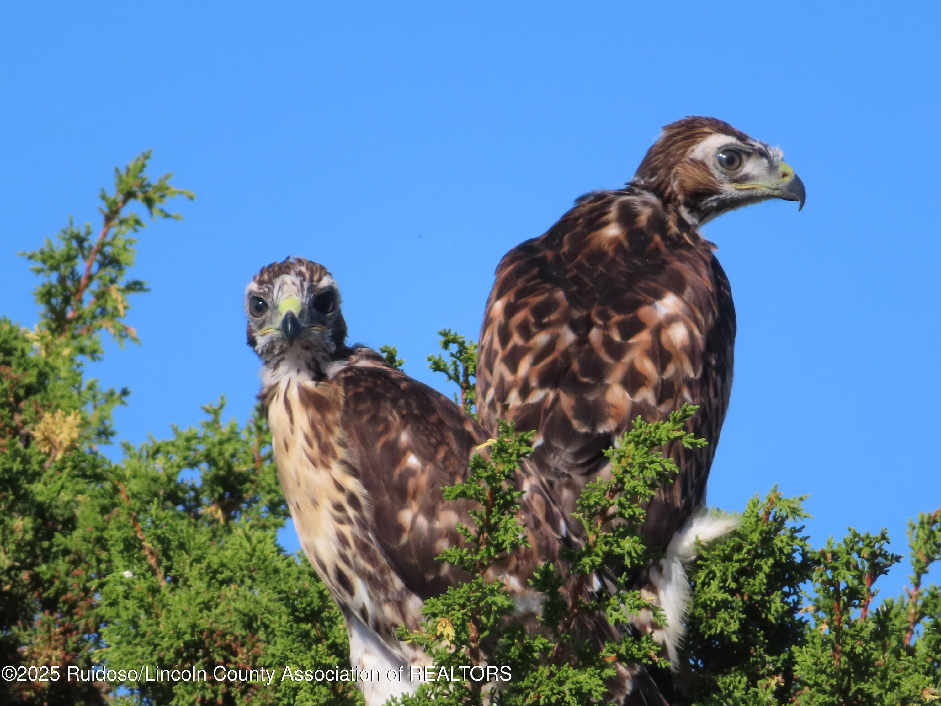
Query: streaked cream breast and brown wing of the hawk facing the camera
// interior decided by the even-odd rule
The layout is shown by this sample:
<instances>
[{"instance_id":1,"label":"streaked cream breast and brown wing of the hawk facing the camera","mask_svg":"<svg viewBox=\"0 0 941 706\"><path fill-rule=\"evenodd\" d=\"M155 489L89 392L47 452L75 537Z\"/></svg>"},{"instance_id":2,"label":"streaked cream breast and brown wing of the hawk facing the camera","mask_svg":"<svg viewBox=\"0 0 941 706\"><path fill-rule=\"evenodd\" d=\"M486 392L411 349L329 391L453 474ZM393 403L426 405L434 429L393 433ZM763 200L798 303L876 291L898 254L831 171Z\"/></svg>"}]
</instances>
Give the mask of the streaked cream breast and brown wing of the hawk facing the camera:
<instances>
[{"instance_id":1,"label":"streaked cream breast and brown wing of the hawk facing the camera","mask_svg":"<svg viewBox=\"0 0 941 706\"><path fill-rule=\"evenodd\" d=\"M446 501L442 488L466 476L486 432L367 348L333 377L272 387L265 402L301 547L347 619L397 644L399 625L419 627L425 599L468 578L435 560L463 542L455 524L471 523L470 504ZM522 468L517 482L530 547L492 573L535 610L526 579L542 561L559 563L567 529L534 473Z\"/></svg>"}]
</instances>

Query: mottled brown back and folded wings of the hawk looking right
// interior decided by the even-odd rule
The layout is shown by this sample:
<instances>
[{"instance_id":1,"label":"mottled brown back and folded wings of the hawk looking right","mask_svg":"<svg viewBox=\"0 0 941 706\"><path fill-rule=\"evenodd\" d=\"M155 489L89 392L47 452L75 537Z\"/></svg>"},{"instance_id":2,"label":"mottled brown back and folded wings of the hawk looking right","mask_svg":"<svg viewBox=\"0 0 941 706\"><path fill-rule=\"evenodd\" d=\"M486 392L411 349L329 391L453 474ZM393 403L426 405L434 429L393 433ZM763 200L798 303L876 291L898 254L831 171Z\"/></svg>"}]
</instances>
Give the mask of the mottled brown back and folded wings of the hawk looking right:
<instances>
[{"instance_id":1,"label":"mottled brown back and folded wings of the hawk looking right","mask_svg":"<svg viewBox=\"0 0 941 706\"><path fill-rule=\"evenodd\" d=\"M667 450L679 477L647 510L662 548L704 500L728 406L735 311L712 248L645 192L589 195L503 257L481 330L481 423L535 430L534 468L567 512L632 420L700 406L709 445Z\"/></svg>"}]
</instances>

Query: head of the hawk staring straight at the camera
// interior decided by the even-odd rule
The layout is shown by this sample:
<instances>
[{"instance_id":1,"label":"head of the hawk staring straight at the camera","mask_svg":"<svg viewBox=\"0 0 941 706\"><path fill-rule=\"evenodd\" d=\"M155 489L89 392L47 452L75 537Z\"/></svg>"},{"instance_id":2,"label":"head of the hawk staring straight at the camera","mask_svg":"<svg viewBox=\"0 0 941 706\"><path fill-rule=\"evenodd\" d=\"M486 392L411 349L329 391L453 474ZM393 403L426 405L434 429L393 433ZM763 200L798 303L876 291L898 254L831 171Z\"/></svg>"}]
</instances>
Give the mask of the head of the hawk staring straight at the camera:
<instances>
[{"instance_id":1,"label":"head of the hawk staring straight at the camera","mask_svg":"<svg viewBox=\"0 0 941 706\"><path fill-rule=\"evenodd\" d=\"M290 256L265 265L248 283L245 311L248 345L266 370L287 361L322 374L345 349L340 292L324 265Z\"/></svg>"}]
</instances>

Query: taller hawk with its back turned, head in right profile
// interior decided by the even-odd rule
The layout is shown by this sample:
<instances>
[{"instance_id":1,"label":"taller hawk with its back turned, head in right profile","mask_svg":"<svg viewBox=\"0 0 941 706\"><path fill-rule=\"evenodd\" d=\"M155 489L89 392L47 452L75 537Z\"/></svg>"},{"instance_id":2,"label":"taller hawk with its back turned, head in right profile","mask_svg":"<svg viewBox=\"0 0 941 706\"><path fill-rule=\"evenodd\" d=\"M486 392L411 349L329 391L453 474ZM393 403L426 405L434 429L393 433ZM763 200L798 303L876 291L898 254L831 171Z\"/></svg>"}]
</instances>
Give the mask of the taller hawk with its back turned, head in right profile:
<instances>
[{"instance_id":1,"label":"taller hawk with its back turned, head in right profile","mask_svg":"<svg viewBox=\"0 0 941 706\"><path fill-rule=\"evenodd\" d=\"M699 406L690 430L709 445L667 449L678 478L650 502L642 529L673 560L654 570L648 588L667 609L673 634L663 639L674 658L688 593L678 554L689 553L691 531L706 539L727 529L721 521L689 524L705 503L735 344L728 279L698 229L768 199L804 207L804 185L780 150L722 120L678 120L630 183L582 196L549 231L503 256L486 303L480 421L535 431L534 471L566 513L605 472L602 452L632 420ZM679 596L665 595L665 586Z\"/></svg>"}]
</instances>

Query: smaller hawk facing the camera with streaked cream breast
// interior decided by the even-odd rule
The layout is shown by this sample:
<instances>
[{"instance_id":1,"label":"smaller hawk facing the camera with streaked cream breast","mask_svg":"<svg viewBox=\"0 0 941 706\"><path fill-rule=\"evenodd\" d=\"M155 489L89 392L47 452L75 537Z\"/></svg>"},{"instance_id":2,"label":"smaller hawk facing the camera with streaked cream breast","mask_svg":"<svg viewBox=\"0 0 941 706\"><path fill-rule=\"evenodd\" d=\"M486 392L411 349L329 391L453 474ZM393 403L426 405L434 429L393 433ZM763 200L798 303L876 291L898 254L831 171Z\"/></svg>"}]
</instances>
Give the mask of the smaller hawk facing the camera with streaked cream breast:
<instances>
[{"instance_id":1,"label":"smaller hawk facing the camera with streaked cream breast","mask_svg":"<svg viewBox=\"0 0 941 706\"><path fill-rule=\"evenodd\" d=\"M359 680L366 703L412 692L419 682L408 680L410 667L431 660L395 631L403 624L418 629L423 601L468 578L435 560L462 541L456 522L470 525L469 504L445 501L441 488L465 477L470 455L489 435L375 351L346 345L340 293L323 265L288 258L263 267L247 286L246 312L248 345L263 361L260 396L279 481L301 547L343 613L352 665L380 676ZM559 562L567 529L525 464L518 484L530 547L494 575L533 627L540 600L527 579L539 563ZM612 636L606 621L584 629L600 640ZM400 667L406 679L388 679ZM626 670L620 689L659 698L643 670Z\"/></svg>"}]
</instances>

